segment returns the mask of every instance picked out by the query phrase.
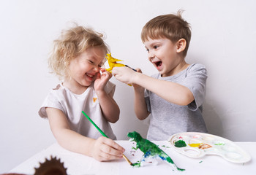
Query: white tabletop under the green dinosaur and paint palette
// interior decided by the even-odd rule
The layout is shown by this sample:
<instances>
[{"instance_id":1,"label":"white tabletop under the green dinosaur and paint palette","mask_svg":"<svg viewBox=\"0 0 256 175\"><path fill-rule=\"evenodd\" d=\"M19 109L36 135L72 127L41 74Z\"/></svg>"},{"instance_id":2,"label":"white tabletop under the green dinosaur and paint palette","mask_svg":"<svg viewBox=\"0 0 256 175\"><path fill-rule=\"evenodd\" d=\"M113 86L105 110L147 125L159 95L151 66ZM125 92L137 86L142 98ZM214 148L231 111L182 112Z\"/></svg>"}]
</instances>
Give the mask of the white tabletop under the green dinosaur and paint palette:
<instances>
[{"instance_id":1,"label":"white tabletop under the green dinosaur and paint palette","mask_svg":"<svg viewBox=\"0 0 256 175\"><path fill-rule=\"evenodd\" d=\"M137 162L142 157L143 153L140 151L132 152L134 143L130 141L116 141L126 149L124 155L132 161ZM52 144L47 149L38 152L19 166L13 168L10 173L20 174L34 174L34 168L43 163L45 158L50 159L50 155L60 158L64 162L64 167L67 168L67 174L207 174L207 175L220 175L220 174L256 174L256 142L235 142L239 147L244 149L251 156L251 160L247 163L230 163L219 155L206 155L203 158L189 158L181 155L170 147L168 141L153 141L159 145L174 163L179 168L184 168L186 171L173 171L167 163L159 160L157 166L146 165L140 168L129 166L126 160L114 160L109 162L99 162L94 158L80 155L75 152L69 152L67 149L62 148L59 144ZM163 147L164 146L164 147Z\"/></svg>"}]
</instances>

